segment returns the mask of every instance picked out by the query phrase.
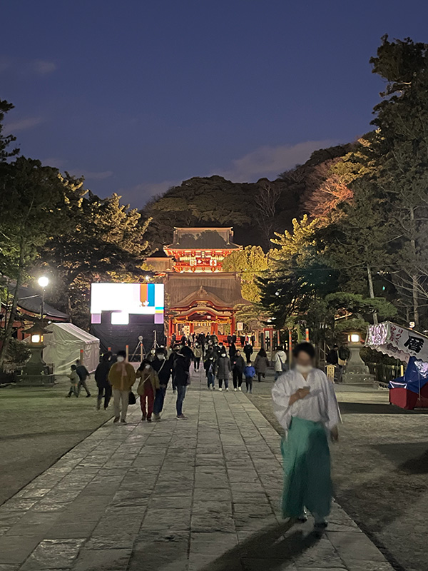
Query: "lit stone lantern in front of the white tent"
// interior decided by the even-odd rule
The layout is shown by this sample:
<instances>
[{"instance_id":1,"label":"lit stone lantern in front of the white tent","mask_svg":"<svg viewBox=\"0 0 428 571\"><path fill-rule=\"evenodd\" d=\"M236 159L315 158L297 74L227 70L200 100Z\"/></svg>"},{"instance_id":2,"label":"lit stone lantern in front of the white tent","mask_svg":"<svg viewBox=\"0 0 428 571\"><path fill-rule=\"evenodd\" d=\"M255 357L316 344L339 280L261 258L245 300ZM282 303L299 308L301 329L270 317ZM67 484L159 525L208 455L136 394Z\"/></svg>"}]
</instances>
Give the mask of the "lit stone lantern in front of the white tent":
<instances>
[{"instance_id":1,"label":"lit stone lantern in front of the white tent","mask_svg":"<svg viewBox=\"0 0 428 571\"><path fill-rule=\"evenodd\" d=\"M46 347L44 343L45 335L49 335L51 332L46 330L41 324L35 323L25 333L30 335L28 347L31 351L31 357L24 365L21 375L17 378L18 385L54 385L55 375L51 374L49 366L44 362L42 355Z\"/></svg>"}]
</instances>

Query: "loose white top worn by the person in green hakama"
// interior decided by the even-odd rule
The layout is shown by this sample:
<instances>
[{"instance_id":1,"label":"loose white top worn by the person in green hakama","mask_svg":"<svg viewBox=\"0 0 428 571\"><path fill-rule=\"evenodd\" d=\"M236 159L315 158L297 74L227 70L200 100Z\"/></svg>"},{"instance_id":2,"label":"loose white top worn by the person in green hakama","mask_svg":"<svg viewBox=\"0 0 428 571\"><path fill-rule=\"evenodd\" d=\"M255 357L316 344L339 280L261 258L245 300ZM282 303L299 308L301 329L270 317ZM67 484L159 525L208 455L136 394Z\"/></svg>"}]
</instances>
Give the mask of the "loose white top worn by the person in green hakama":
<instances>
[{"instance_id":1,"label":"loose white top worn by the person in green hakama","mask_svg":"<svg viewBox=\"0 0 428 571\"><path fill-rule=\"evenodd\" d=\"M299 388L310 388L305 398L296 400L290 406L290 396ZM273 412L286 431L292 417L298 416L315 423L323 423L331 430L340 423L340 410L337 405L335 387L320 369L312 369L307 379L295 369L281 375L272 388Z\"/></svg>"}]
</instances>

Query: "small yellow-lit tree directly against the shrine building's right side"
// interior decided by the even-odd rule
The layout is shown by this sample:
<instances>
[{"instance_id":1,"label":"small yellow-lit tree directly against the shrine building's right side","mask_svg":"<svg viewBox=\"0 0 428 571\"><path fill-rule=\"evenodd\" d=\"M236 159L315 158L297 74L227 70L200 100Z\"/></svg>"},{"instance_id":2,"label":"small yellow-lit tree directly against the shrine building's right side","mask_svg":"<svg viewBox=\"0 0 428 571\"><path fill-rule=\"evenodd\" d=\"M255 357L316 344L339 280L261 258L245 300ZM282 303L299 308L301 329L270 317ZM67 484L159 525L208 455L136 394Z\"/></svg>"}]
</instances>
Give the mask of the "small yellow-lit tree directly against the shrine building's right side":
<instances>
[{"instance_id":1,"label":"small yellow-lit tree directly against the shrine building's right side","mask_svg":"<svg viewBox=\"0 0 428 571\"><path fill-rule=\"evenodd\" d=\"M242 250L236 250L226 256L223 260L223 271L239 273L243 298L258 303L258 278L267 270L268 265L267 256L260 246L245 246Z\"/></svg>"}]
</instances>

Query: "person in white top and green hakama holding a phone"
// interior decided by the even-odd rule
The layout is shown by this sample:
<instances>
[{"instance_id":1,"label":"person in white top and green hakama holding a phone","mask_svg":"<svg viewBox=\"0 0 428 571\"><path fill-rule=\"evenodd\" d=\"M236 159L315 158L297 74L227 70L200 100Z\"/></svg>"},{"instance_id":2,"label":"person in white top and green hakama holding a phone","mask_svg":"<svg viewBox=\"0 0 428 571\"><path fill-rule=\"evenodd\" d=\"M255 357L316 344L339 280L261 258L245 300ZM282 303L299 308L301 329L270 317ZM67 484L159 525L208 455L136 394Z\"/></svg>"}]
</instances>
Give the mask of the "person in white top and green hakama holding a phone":
<instances>
[{"instance_id":1,"label":"person in white top and green hakama holding a phone","mask_svg":"<svg viewBox=\"0 0 428 571\"><path fill-rule=\"evenodd\" d=\"M314 368L314 346L299 343L293 355L295 368L281 375L272 388L273 410L286 435L282 515L305 520L307 508L320 535L327 527L332 501L328 440L339 437L340 411L333 383Z\"/></svg>"}]
</instances>

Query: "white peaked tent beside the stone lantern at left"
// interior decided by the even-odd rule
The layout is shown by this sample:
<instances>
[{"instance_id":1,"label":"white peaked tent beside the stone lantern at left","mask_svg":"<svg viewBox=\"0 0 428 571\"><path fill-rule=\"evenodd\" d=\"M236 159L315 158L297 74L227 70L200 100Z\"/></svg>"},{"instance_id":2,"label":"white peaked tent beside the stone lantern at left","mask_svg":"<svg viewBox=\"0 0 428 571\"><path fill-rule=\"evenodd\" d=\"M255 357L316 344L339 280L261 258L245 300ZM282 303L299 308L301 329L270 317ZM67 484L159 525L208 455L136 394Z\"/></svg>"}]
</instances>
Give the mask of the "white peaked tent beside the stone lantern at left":
<instances>
[{"instance_id":1,"label":"white peaked tent beside the stone lantern at left","mask_svg":"<svg viewBox=\"0 0 428 571\"><path fill-rule=\"evenodd\" d=\"M99 363L100 340L91 333L76 327L73 323L51 323L46 327L51 333L44 337L46 348L43 351L45 363L54 364L54 374L68 375L70 367L81 358L83 365L92 373Z\"/></svg>"}]
</instances>

